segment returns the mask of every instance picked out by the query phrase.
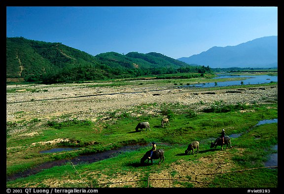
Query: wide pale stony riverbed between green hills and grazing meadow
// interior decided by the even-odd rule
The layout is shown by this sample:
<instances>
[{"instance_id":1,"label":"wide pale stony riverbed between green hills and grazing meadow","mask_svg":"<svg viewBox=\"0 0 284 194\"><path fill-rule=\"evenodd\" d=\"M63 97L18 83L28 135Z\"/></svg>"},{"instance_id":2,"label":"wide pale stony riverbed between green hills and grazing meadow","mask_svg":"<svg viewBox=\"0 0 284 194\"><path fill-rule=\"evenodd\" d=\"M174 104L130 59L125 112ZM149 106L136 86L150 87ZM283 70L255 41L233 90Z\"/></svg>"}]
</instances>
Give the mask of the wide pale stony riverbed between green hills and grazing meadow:
<instances>
[{"instance_id":1,"label":"wide pale stony riverbed between green hills and grazing meadow","mask_svg":"<svg viewBox=\"0 0 284 194\"><path fill-rule=\"evenodd\" d=\"M114 110L130 111L143 104L179 103L193 110L214 101L266 103L278 99L278 86L206 90L166 85L96 86L90 83L7 85L6 120L51 119L63 115L96 120ZM13 91L13 92L9 92ZM153 114L155 110L152 110Z\"/></svg>"}]
</instances>

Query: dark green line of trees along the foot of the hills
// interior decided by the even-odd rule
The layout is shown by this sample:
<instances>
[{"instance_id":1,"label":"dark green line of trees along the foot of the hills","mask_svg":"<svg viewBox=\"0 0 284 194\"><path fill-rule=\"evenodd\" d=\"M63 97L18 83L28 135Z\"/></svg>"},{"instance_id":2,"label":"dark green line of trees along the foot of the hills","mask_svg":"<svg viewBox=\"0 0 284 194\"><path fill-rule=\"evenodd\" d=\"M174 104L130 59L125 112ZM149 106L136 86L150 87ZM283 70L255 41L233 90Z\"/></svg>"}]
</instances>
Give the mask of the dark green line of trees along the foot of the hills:
<instances>
[{"instance_id":1,"label":"dark green line of trees along the foot of the hills","mask_svg":"<svg viewBox=\"0 0 284 194\"><path fill-rule=\"evenodd\" d=\"M58 71L46 73L42 75L43 83L59 83L70 81L87 81L87 80L103 80L112 78L136 78L148 75L167 75L188 73L186 78L202 77L206 73L212 73L209 67L182 67L179 69L173 68L110 68L107 65L101 64L99 67L92 65L79 65L75 67L65 67ZM199 73L199 74L196 74ZM30 80L31 81L31 80Z\"/></svg>"}]
</instances>

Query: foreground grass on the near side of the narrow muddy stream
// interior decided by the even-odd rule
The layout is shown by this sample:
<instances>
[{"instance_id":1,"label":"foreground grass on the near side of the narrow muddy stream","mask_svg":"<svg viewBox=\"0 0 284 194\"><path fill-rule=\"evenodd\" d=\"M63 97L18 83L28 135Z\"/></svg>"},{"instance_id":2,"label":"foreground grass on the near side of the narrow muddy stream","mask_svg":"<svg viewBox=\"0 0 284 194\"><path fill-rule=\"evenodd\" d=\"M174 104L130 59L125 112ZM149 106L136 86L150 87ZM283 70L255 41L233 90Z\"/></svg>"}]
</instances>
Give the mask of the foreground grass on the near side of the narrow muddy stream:
<instances>
[{"instance_id":1,"label":"foreground grass on the near side of the narrow muddy stream","mask_svg":"<svg viewBox=\"0 0 284 194\"><path fill-rule=\"evenodd\" d=\"M233 139L233 148L229 149L228 152L231 153L231 156L226 157L227 162L234 161L235 166L233 166L232 171L242 170L250 167L260 167L261 162L256 162L260 160L263 162L262 158L266 154L259 154L262 150L265 153L265 144L260 146L258 149L255 148L259 142L251 141L250 138L253 138L255 133L261 133L261 136L264 137L261 141L263 142L274 142L274 133L277 132L277 123L260 125L251 129L248 133L244 134L239 138ZM261 143L261 142L260 142ZM267 143L269 145L270 143ZM277 142L276 142L277 143ZM91 164L79 164L75 165L76 170L72 167L71 163L64 166L57 166L50 169L46 169L36 175L29 176L27 178L17 179L15 181L7 182L7 187L31 187L33 186L46 186L46 180L52 180L61 182L62 186L69 187L86 187L90 186L91 183L93 187L109 187L109 185L95 185L96 183L101 182L102 177L106 177L106 182L109 178L118 180L118 175L130 174L139 174L137 179L147 180L148 176L151 177L152 174L159 173L165 170L169 170L170 166L180 164L180 161L196 161L202 157L214 157L215 152L222 151L212 151L209 148L209 144L201 144L200 153L196 155L184 155L184 150L187 145L163 145L157 143L158 148L165 150L165 161L161 165L157 165L158 160L154 160L153 165L142 165L140 164L140 158L142 155L150 149L148 147L141 147L136 151L125 152L112 157L109 159L101 160ZM254 146L253 149L251 147ZM244 152L241 155L236 156L237 149L242 148ZM248 150L248 152L247 152ZM267 150L269 151L269 149ZM250 156L249 156L250 155ZM237 157L243 157L246 160L246 163L240 163ZM210 164L209 164L210 165ZM209 166L210 167L210 166ZM173 179L179 179L178 171L172 170L169 171ZM83 182L81 181L82 177ZM107 179L108 177L108 179ZM153 178L153 177L152 177ZM186 176L188 180L192 180L192 177ZM73 183L67 182L67 179L73 180ZM184 179L184 177L182 177ZM36 181L35 181L36 180ZM253 180L253 181L252 181ZM213 179L208 179L207 181L211 184L208 184L208 187L219 187L219 188L277 188L278 187L278 170L277 169L254 169L246 170L242 172L232 172L225 174L216 174ZM205 180L203 180L205 181ZM116 181L117 182L117 181ZM173 181L172 187L194 187L192 182L181 182ZM137 187L147 187L147 181L137 182ZM150 185L151 187L151 185Z\"/></svg>"}]
</instances>

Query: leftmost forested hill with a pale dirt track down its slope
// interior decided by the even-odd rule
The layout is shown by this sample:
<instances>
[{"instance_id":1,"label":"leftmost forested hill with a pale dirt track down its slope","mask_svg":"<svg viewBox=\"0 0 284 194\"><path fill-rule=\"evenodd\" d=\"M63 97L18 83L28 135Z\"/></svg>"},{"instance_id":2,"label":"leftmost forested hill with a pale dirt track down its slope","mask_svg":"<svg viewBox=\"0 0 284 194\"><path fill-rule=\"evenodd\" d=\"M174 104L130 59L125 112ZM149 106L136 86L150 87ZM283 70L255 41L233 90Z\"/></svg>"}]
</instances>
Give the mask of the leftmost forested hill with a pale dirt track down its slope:
<instances>
[{"instance_id":1,"label":"leftmost forested hill with a pale dirt track down its slope","mask_svg":"<svg viewBox=\"0 0 284 194\"><path fill-rule=\"evenodd\" d=\"M97 67L100 61L92 55L60 42L44 42L24 38L6 39L6 77L41 80L65 68Z\"/></svg>"}]
</instances>

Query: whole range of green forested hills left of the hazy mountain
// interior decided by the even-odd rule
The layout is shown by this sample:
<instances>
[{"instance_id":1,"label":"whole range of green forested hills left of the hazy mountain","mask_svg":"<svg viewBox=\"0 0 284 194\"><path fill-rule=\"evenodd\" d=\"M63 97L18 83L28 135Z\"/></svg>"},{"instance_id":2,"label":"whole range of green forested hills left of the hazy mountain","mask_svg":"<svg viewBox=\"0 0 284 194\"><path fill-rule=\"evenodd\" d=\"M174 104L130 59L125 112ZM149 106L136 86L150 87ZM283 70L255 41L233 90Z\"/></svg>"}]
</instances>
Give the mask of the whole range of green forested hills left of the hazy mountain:
<instances>
[{"instance_id":1,"label":"whole range of green forested hills left of the hazy mountain","mask_svg":"<svg viewBox=\"0 0 284 194\"><path fill-rule=\"evenodd\" d=\"M60 42L20 38L6 39L7 82L56 83L144 75L211 72L209 67L192 66L160 53L116 52L96 56Z\"/></svg>"}]
</instances>

